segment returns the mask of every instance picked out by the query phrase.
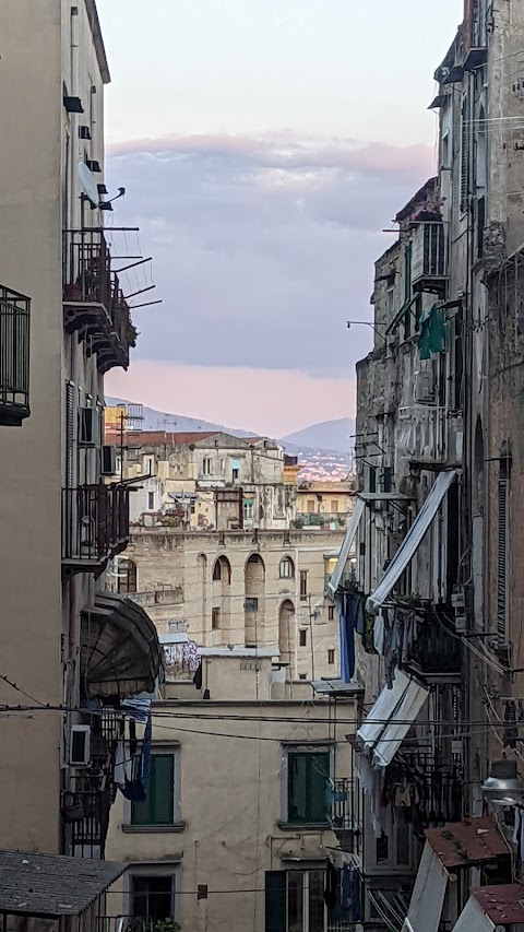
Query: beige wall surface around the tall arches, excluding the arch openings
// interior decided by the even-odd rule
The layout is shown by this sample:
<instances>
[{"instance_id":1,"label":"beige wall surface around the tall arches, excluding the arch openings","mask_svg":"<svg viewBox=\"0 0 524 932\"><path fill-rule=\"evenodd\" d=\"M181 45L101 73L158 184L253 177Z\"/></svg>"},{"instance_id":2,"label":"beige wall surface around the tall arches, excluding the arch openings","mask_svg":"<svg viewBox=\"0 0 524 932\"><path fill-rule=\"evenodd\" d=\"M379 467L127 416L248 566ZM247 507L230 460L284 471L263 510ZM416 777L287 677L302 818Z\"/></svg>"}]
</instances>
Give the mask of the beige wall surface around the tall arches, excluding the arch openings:
<instances>
[{"instance_id":1,"label":"beige wall surface around the tall arches, excluding the arch openings","mask_svg":"<svg viewBox=\"0 0 524 932\"><path fill-rule=\"evenodd\" d=\"M251 532L183 533L171 529L139 529L131 535L126 557L138 566L140 590L160 586L180 588L183 603L162 604L147 611L160 632L168 630L169 618L186 618L192 638L204 646L245 645L254 637L260 647L273 647L275 654L283 644L279 622L288 621L283 605L293 606L293 623L286 628L289 641L291 679L333 676L338 672L338 622L334 605L324 599L326 558L340 548L344 533L291 531L283 533ZM264 585L257 579L257 592L248 591L249 557L259 555L264 566ZM231 567L227 593L213 582L213 570L219 557ZM281 578L281 561L289 556L294 576ZM307 574L307 594L300 597L300 573ZM258 612L246 611L246 597L259 598ZM227 599L227 606L224 603ZM212 630L212 609L222 607L219 630ZM254 617L257 614L257 617ZM254 632L254 626L257 630ZM299 630L306 644L300 645ZM329 651L334 654L329 654ZM330 663L330 657L333 662ZM314 668L314 669L313 669Z\"/></svg>"}]
</instances>

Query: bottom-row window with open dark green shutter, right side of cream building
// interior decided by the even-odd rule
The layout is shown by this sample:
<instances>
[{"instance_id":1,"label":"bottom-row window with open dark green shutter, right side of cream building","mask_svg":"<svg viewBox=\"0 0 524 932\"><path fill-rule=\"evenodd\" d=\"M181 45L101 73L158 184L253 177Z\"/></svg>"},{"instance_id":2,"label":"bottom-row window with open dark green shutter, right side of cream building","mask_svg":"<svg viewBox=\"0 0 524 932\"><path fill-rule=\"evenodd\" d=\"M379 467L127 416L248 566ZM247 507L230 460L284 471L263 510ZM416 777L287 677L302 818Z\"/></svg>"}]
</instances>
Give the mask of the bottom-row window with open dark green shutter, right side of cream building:
<instances>
[{"instance_id":1,"label":"bottom-row window with open dark green shutter, right side of cream building","mask_svg":"<svg viewBox=\"0 0 524 932\"><path fill-rule=\"evenodd\" d=\"M323 871L266 871L265 932L324 932Z\"/></svg>"}]
</instances>

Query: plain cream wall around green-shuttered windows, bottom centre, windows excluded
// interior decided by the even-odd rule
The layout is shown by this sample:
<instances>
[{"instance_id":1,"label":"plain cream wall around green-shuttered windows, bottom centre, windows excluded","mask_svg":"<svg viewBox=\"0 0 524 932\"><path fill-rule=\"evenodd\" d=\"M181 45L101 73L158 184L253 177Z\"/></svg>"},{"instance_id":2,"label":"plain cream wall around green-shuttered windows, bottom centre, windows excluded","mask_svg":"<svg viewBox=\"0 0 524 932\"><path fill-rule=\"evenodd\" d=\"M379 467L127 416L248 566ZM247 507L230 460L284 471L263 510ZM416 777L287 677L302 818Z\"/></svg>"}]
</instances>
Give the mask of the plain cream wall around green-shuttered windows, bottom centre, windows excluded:
<instances>
[{"instance_id":1,"label":"plain cream wall around green-shuttered windows, bottom centre, windows excluded","mask_svg":"<svg viewBox=\"0 0 524 932\"><path fill-rule=\"evenodd\" d=\"M325 859L336 846L331 831L283 828L281 822L283 743L334 741L333 772L349 776L345 734L354 731L353 703L340 704L336 716L347 723L335 725L332 720L330 724L325 701L231 700L154 707L155 744L168 748L179 743L180 818L184 825L176 834L130 831L129 809L119 794L111 813L107 857L131 864L131 874L144 870L176 873L181 890L176 918L182 929L241 932L249 923L262 932L265 872L300 870L308 859L311 866L311 859ZM218 736L221 733L229 736ZM108 896L111 915L129 912L126 883L118 882ZM199 884L209 887L207 899L196 899Z\"/></svg>"}]
</instances>

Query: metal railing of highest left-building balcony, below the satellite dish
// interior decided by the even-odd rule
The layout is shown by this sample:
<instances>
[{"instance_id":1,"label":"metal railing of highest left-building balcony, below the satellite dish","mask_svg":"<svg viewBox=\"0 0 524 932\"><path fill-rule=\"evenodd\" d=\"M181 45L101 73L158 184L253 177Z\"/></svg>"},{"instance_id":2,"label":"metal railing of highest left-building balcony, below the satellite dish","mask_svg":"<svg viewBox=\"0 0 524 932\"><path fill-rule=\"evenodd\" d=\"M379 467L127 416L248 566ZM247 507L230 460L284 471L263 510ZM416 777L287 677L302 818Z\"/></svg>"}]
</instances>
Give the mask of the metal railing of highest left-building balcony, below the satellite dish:
<instances>
[{"instance_id":1,"label":"metal railing of highest left-building balcony, below the satellite dish","mask_svg":"<svg viewBox=\"0 0 524 932\"><path fill-rule=\"evenodd\" d=\"M111 303L109 247L100 227L63 233L63 297L73 302Z\"/></svg>"}]
</instances>

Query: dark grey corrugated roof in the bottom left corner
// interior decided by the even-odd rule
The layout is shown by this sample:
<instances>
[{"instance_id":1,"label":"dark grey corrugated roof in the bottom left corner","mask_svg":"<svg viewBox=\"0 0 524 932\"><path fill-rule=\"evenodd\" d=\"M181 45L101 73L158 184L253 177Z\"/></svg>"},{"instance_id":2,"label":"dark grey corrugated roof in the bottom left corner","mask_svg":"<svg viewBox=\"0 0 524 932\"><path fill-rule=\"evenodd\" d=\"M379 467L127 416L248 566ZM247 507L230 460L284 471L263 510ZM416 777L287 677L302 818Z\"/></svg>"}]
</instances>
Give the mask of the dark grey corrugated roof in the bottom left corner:
<instances>
[{"instance_id":1,"label":"dark grey corrugated roof in the bottom left corner","mask_svg":"<svg viewBox=\"0 0 524 932\"><path fill-rule=\"evenodd\" d=\"M112 861L0 851L0 912L79 916L124 871Z\"/></svg>"}]
</instances>

